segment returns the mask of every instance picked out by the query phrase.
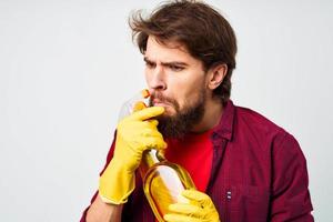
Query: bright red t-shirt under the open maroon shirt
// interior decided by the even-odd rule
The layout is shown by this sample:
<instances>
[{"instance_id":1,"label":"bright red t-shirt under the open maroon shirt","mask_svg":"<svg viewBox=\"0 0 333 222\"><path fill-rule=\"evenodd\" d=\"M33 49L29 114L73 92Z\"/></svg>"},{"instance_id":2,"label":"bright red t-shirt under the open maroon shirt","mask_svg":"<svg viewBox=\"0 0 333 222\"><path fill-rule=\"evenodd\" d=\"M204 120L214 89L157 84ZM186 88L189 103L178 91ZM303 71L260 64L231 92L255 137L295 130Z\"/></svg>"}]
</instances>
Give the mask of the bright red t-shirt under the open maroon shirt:
<instances>
[{"instance_id":1,"label":"bright red t-shirt under the open maroon shirt","mask_svg":"<svg viewBox=\"0 0 333 222\"><path fill-rule=\"evenodd\" d=\"M211 134L212 130L209 130L204 133L189 133L182 140L167 140L167 160L183 167L201 192L204 192L208 186L212 169Z\"/></svg>"}]
</instances>

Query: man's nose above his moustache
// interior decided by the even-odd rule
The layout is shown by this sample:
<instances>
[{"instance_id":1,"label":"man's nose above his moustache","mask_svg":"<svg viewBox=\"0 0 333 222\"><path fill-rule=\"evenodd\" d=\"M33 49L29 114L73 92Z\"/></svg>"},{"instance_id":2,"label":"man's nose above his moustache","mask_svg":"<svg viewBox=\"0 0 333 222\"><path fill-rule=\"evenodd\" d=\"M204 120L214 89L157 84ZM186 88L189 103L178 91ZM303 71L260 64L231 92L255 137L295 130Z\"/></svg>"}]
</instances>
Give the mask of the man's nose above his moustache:
<instances>
[{"instance_id":1,"label":"man's nose above his moustache","mask_svg":"<svg viewBox=\"0 0 333 222\"><path fill-rule=\"evenodd\" d=\"M157 65L153 70L148 70L147 72L147 82L150 92L162 91L167 89L163 67Z\"/></svg>"}]
</instances>

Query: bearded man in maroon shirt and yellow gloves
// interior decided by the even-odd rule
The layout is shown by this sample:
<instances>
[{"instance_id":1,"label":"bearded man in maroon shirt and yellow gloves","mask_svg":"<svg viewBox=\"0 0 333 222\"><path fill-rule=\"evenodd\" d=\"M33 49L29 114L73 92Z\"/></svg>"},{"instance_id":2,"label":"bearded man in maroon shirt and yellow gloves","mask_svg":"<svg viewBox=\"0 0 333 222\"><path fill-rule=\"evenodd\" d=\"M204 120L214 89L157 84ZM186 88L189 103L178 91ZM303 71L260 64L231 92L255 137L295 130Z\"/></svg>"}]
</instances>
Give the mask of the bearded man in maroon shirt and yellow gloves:
<instances>
[{"instance_id":1,"label":"bearded man in maroon shirt and yellow gloves","mask_svg":"<svg viewBox=\"0 0 333 222\"><path fill-rule=\"evenodd\" d=\"M130 26L151 107L119 123L81 221L155 221L135 176L149 147L184 167L198 188L182 193L189 203L170 205L165 221L313 221L296 140L230 100L236 40L229 22L205 3L175 1Z\"/></svg>"}]
</instances>

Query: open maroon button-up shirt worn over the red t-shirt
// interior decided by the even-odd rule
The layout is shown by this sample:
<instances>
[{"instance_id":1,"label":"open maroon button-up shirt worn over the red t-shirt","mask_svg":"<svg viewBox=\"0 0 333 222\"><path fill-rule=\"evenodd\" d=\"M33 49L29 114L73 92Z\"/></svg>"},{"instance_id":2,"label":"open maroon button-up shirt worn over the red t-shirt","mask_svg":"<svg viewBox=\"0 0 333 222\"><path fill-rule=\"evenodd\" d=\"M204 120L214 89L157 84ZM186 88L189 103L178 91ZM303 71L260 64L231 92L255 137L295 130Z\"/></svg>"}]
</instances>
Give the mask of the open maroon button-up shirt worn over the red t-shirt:
<instances>
[{"instance_id":1,"label":"open maroon button-up shirt worn over the red t-shirt","mask_svg":"<svg viewBox=\"0 0 333 222\"><path fill-rule=\"evenodd\" d=\"M222 222L313 221L306 161L291 134L229 101L211 140L213 164L205 193ZM107 164L113 147L114 142ZM85 221L87 210L81 222ZM154 222L140 176L124 205L122 221Z\"/></svg>"}]
</instances>

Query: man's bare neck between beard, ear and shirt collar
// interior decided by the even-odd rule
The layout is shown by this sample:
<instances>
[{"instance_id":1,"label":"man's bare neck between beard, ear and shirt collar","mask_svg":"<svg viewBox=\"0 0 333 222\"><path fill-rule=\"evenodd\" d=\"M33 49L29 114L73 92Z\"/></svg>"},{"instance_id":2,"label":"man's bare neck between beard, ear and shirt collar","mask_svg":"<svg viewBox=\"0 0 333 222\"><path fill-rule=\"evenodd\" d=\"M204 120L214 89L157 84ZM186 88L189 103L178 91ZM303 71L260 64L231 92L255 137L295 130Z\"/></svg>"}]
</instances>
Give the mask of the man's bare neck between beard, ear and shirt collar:
<instances>
[{"instance_id":1,"label":"man's bare neck between beard, ear and shirt collar","mask_svg":"<svg viewBox=\"0 0 333 222\"><path fill-rule=\"evenodd\" d=\"M200 123L191 132L200 133L216 127L223 113L223 105L219 99L206 100L205 111Z\"/></svg>"}]
</instances>

